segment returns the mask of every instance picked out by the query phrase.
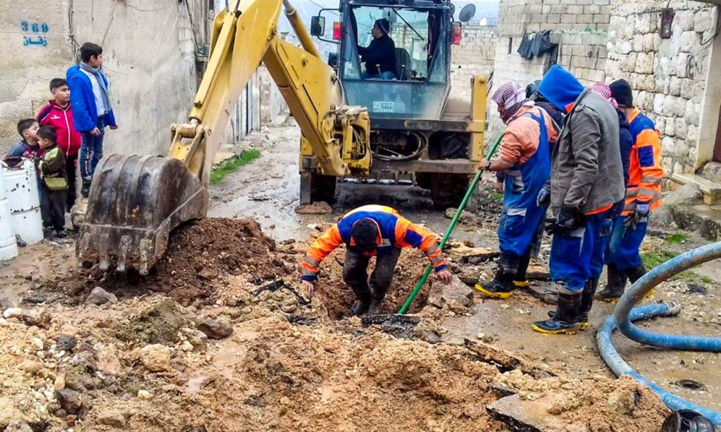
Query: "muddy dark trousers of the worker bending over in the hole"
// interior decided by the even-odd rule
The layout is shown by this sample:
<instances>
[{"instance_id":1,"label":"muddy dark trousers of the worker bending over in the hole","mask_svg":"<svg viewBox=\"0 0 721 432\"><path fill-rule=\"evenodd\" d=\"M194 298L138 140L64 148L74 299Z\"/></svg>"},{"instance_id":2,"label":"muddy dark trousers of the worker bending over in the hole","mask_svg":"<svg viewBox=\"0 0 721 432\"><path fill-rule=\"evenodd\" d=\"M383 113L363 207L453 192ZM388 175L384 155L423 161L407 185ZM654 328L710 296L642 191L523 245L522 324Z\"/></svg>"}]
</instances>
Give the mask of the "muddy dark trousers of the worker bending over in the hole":
<instances>
[{"instance_id":1,"label":"muddy dark trousers of the worker bending over in the hole","mask_svg":"<svg viewBox=\"0 0 721 432\"><path fill-rule=\"evenodd\" d=\"M343 280L350 285L358 300L370 302L371 297L383 300L391 286L393 271L400 256L400 248L393 248L389 253L376 256L376 269L368 279L368 261L371 258L363 255L360 251L348 248L345 252L345 264L343 264Z\"/></svg>"}]
</instances>

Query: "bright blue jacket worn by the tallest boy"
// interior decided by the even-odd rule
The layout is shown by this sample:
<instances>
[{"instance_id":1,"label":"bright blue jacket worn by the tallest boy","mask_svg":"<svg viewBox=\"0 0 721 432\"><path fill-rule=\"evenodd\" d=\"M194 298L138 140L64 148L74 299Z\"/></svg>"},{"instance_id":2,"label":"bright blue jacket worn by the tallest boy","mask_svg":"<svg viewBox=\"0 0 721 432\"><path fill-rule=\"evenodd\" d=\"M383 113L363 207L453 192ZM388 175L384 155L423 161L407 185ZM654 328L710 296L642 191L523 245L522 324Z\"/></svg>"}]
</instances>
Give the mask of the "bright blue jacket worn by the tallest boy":
<instances>
[{"instance_id":1,"label":"bright blue jacket worn by the tallest boy","mask_svg":"<svg viewBox=\"0 0 721 432\"><path fill-rule=\"evenodd\" d=\"M102 75L102 78L107 86L105 74ZM80 70L80 66L72 66L66 72L66 81L68 81L70 89L70 106L73 108L75 129L79 132L89 132L95 129L98 126L97 107L90 78ZM107 126L116 126L115 114L112 109L107 112L105 123Z\"/></svg>"}]
</instances>

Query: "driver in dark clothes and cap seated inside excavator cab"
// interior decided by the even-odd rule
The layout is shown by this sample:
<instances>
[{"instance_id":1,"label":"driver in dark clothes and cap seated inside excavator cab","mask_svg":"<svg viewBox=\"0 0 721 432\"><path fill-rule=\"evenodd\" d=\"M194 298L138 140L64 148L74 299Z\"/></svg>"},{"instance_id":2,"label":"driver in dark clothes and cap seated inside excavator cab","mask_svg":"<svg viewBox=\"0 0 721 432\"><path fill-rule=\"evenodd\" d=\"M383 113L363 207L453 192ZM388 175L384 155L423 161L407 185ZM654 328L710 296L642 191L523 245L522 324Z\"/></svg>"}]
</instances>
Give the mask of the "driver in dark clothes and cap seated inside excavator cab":
<instances>
[{"instance_id":1,"label":"driver in dark clothes and cap seated inside excavator cab","mask_svg":"<svg viewBox=\"0 0 721 432\"><path fill-rule=\"evenodd\" d=\"M396 70L396 44L389 33L391 23L388 19L376 19L373 23L373 40L371 45L364 48L358 47L358 55L361 55L361 62L366 63L366 71L361 74L363 79L394 79L397 78Z\"/></svg>"}]
</instances>

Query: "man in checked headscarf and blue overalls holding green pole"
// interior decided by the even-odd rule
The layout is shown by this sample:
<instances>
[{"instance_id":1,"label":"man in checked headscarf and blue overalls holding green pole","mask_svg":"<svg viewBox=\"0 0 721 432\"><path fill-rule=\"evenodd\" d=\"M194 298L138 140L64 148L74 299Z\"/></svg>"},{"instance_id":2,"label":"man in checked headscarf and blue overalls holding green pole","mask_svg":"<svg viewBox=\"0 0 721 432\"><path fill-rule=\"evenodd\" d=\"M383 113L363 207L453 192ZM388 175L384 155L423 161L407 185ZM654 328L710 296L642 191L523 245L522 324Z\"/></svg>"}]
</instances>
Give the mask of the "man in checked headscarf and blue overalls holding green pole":
<instances>
[{"instance_id":1,"label":"man in checked headscarf and blue overalls holding green pole","mask_svg":"<svg viewBox=\"0 0 721 432\"><path fill-rule=\"evenodd\" d=\"M545 207L536 196L551 174L549 143L557 140L551 117L534 102L526 101L526 90L510 82L492 96L498 114L507 124L500 144L500 158L481 161L481 169L503 171L503 213L498 225L500 260L492 282L479 282L476 289L492 297L507 298L515 287L523 287L533 242L544 220Z\"/></svg>"}]
</instances>

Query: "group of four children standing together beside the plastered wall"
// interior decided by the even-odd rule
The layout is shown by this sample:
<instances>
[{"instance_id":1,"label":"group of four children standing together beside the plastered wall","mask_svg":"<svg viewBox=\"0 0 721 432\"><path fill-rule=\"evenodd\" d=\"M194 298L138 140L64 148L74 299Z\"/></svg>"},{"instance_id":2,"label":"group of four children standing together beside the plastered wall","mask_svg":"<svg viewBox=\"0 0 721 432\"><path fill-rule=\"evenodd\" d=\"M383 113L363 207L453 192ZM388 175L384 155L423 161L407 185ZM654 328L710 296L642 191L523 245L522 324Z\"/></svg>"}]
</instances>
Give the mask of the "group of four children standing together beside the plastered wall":
<instances>
[{"instance_id":1,"label":"group of four children standing together beside the plastered wall","mask_svg":"<svg viewBox=\"0 0 721 432\"><path fill-rule=\"evenodd\" d=\"M5 156L9 166L22 159L35 162L43 234L67 237L65 213L76 201L76 167L81 194L87 197L95 167L102 158L105 127L118 128L112 112L102 48L87 42L80 48L81 63L68 68L66 78L50 81L53 99L36 118L17 123L22 140Z\"/></svg>"}]
</instances>

